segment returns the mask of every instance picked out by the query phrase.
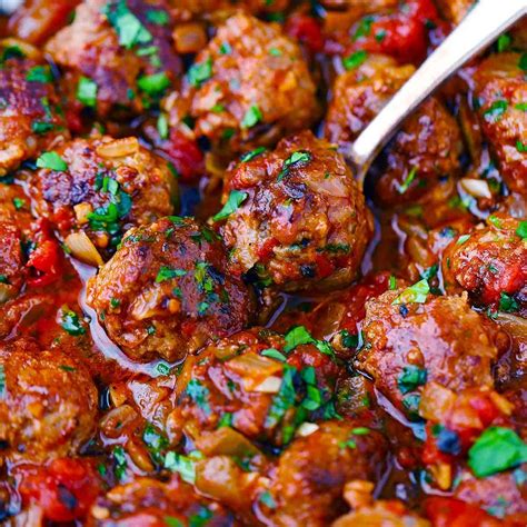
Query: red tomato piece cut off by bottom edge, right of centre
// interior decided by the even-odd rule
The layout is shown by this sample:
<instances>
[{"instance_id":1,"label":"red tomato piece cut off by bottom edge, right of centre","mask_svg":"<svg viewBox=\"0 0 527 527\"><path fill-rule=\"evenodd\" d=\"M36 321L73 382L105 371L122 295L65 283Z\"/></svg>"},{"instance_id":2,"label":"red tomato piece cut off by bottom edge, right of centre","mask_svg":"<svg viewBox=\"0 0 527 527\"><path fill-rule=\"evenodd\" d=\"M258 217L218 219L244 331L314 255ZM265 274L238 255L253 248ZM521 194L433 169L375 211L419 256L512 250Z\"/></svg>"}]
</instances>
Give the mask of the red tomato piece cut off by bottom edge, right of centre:
<instances>
[{"instance_id":1,"label":"red tomato piece cut off by bottom edge, right of centre","mask_svg":"<svg viewBox=\"0 0 527 527\"><path fill-rule=\"evenodd\" d=\"M490 527L499 525L496 518L479 507L455 498L431 497L425 500L426 516L434 527Z\"/></svg>"}]
</instances>

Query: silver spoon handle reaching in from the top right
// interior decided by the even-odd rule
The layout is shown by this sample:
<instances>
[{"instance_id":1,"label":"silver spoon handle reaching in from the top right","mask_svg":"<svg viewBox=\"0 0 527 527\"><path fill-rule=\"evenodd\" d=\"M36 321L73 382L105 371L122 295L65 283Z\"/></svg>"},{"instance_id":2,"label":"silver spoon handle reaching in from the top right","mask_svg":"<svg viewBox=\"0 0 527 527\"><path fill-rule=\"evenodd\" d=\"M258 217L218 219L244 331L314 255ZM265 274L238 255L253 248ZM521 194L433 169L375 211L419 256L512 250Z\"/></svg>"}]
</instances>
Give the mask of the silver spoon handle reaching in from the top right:
<instances>
[{"instance_id":1,"label":"silver spoon handle reaching in from the top right","mask_svg":"<svg viewBox=\"0 0 527 527\"><path fill-rule=\"evenodd\" d=\"M347 152L364 183L376 156L398 127L439 84L527 13L527 0L479 0L368 125Z\"/></svg>"}]
</instances>

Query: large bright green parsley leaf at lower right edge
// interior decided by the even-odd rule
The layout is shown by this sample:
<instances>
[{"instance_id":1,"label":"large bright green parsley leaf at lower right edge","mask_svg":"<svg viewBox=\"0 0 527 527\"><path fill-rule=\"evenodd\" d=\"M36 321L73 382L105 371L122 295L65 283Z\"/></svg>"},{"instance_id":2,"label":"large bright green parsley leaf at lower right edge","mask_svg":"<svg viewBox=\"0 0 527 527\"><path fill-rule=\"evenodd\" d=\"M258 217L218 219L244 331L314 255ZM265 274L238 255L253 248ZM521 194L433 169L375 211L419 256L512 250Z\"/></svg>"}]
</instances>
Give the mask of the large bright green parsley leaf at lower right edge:
<instances>
[{"instance_id":1,"label":"large bright green parsley leaf at lower right edge","mask_svg":"<svg viewBox=\"0 0 527 527\"><path fill-rule=\"evenodd\" d=\"M487 428L468 450L468 466L478 478L527 461L527 445L510 428Z\"/></svg>"}]
</instances>

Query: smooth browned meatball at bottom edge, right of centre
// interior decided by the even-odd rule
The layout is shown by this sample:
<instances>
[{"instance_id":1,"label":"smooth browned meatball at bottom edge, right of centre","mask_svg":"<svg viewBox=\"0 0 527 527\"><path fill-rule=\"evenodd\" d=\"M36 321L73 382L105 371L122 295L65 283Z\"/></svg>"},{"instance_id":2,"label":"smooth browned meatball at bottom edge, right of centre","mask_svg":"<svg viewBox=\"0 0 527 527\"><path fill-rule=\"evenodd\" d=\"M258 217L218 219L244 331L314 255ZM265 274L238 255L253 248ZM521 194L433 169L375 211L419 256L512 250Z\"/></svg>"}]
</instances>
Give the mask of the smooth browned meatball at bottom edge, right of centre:
<instances>
[{"instance_id":1,"label":"smooth browned meatball at bottom edge, right of centre","mask_svg":"<svg viewBox=\"0 0 527 527\"><path fill-rule=\"evenodd\" d=\"M352 421L327 421L296 439L280 456L272 481L272 525L329 525L348 510L347 483L380 477L386 449L379 432Z\"/></svg>"}]
</instances>

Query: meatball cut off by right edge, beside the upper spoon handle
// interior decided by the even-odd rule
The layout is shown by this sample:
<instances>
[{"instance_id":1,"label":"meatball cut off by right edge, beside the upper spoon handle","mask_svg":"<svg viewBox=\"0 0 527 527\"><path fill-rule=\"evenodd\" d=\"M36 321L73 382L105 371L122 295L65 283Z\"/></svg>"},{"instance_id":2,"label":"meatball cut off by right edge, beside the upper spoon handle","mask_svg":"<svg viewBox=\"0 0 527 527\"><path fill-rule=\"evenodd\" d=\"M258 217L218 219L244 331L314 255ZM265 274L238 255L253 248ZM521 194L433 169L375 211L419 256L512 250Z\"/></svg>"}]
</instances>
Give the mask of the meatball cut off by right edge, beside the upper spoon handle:
<instances>
[{"instance_id":1,"label":"meatball cut off by right edge, beside the upper spoon handle","mask_svg":"<svg viewBox=\"0 0 527 527\"><path fill-rule=\"evenodd\" d=\"M519 53L496 53L475 73L476 101L485 135L511 190L527 193L527 83Z\"/></svg>"}]
</instances>

